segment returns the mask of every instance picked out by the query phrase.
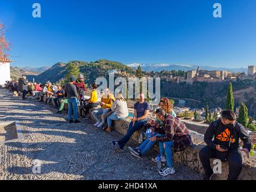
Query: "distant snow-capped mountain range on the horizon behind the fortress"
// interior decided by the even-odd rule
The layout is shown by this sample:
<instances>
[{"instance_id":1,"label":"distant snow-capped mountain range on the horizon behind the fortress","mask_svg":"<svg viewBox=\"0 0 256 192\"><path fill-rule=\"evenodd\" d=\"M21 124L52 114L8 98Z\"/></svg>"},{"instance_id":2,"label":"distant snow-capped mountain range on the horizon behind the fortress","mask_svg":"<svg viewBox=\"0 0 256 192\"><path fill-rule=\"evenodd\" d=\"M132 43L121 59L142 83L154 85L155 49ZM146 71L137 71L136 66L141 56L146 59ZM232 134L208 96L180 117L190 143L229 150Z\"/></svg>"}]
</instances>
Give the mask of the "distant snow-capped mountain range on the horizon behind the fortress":
<instances>
[{"instance_id":1,"label":"distant snow-capped mountain range on the horizon behind the fortress","mask_svg":"<svg viewBox=\"0 0 256 192\"><path fill-rule=\"evenodd\" d=\"M160 72L162 70L165 71L171 71L171 70L182 70L182 71L190 71L190 70L196 70L198 67L203 70L213 71L213 70L219 70L219 71L231 71L233 73L238 72L245 72L247 73L247 68L226 68L226 67L210 67L205 65L185 65L185 64L128 64L129 67L137 68L142 67L142 70L150 72Z\"/></svg>"}]
</instances>

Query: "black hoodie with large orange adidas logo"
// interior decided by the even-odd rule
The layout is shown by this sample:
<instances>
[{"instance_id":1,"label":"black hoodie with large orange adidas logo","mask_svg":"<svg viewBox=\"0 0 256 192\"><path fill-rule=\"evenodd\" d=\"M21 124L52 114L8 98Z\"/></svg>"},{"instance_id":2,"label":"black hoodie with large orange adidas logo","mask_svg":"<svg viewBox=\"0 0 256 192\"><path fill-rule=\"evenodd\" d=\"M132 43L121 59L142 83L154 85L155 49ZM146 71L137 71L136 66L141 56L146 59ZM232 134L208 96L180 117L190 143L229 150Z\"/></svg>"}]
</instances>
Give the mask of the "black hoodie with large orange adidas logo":
<instances>
[{"instance_id":1,"label":"black hoodie with large orange adidas logo","mask_svg":"<svg viewBox=\"0 0 256 192\"><path fill-rule=\"evenodd\" d=\"M229 148L230 136L231 145ZM239 148L239 139L243 141L243 148L251 151L252 142L245 130L245 127L236 122L236 126L234 128L229 128L224 125L220 119L212 122L204 135L205 143L213 149L216 149L216 145L224 145L229 149L237 149Z\"/></svg>"}]
</instances>

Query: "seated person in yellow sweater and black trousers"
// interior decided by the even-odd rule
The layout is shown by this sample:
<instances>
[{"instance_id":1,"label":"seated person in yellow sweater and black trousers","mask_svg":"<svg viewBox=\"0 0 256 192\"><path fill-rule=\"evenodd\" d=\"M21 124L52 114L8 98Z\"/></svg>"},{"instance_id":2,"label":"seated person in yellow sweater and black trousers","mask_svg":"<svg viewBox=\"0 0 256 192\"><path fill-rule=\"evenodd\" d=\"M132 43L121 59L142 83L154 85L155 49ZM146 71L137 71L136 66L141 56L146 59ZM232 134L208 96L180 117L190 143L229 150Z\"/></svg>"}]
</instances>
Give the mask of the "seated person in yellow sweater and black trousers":
<instances>
[{"instance_id":1,"label":"seated person in yellow sweater and black trousers","mask_svg":"<svg viewBox=\"0 0 256 192\"><path fill-rule=\"evenodd\" d=\"M82 119L89 119L90 118L90 112L89 110L95 107L98 107L98 92L96 90L97 85L96 83L93 83L92 85L93 91L91 94L91 97L89 98L89 101L84 104L83 109L85 109L84 113L85 116Z\"/></svg>"}]
</instances>

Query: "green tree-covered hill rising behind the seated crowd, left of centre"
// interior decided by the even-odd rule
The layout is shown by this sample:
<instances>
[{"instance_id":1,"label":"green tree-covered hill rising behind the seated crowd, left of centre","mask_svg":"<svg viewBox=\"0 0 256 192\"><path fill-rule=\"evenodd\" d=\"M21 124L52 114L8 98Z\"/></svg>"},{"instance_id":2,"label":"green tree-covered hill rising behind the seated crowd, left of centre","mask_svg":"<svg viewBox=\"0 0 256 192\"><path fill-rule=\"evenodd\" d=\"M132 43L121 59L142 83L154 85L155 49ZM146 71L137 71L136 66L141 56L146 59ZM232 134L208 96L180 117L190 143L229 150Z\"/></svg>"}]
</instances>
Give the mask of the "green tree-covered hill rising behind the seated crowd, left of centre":
<instances>
[{"instance_id":1,"label":"green tree-covered hill rising behind the seated crowd, left of centre","mask_svg":"<svg viewBox=\"0 0 256 192\"><path fill-rule=\"evenodd\" d=\"M108 70L119 69L122 72L133 74L134 70L120 62L108 61L106 59L100 59L95 62L85 62L85 61L70 61L78 65L81 74L86 77L86 83L92 84L97 77L107 77ZM45 72L39 74L38 76L27 76L28 80L33 78L37 82L45 83L46 81L57 82L66 76L67 64L63 62L58 62Z\"/></svg>"}]
</instances>

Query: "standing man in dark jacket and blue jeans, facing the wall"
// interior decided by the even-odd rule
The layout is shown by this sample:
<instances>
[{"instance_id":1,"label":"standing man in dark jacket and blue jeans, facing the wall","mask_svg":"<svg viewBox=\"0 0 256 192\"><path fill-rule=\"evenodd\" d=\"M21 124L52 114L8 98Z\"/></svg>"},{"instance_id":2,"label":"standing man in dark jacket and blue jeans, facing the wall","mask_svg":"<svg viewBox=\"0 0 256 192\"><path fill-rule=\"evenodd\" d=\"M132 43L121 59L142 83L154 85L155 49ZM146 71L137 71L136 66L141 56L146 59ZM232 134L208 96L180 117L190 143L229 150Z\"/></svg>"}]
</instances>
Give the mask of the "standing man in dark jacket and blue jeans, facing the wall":
<instances>
[{"instance_id":1,"label":"standing man in dark jacket and blue jeans, facing the wall","mask_svg":"<svg viewBox=\"0 0 256 192\"><path fill-rule=\"evenodd\" d=\"M78 114L77 114L77 104L78 104L78 94L76 91L76 86L73 85L75 82L75 77L70 77L70 82L66 84L66 92L67 92L67 104L69 105L69 123L75 122L75 124L80 123L78 120ZM72 118L72 112L75 121L73 121Z\"/></svg>"}]
</instances>

